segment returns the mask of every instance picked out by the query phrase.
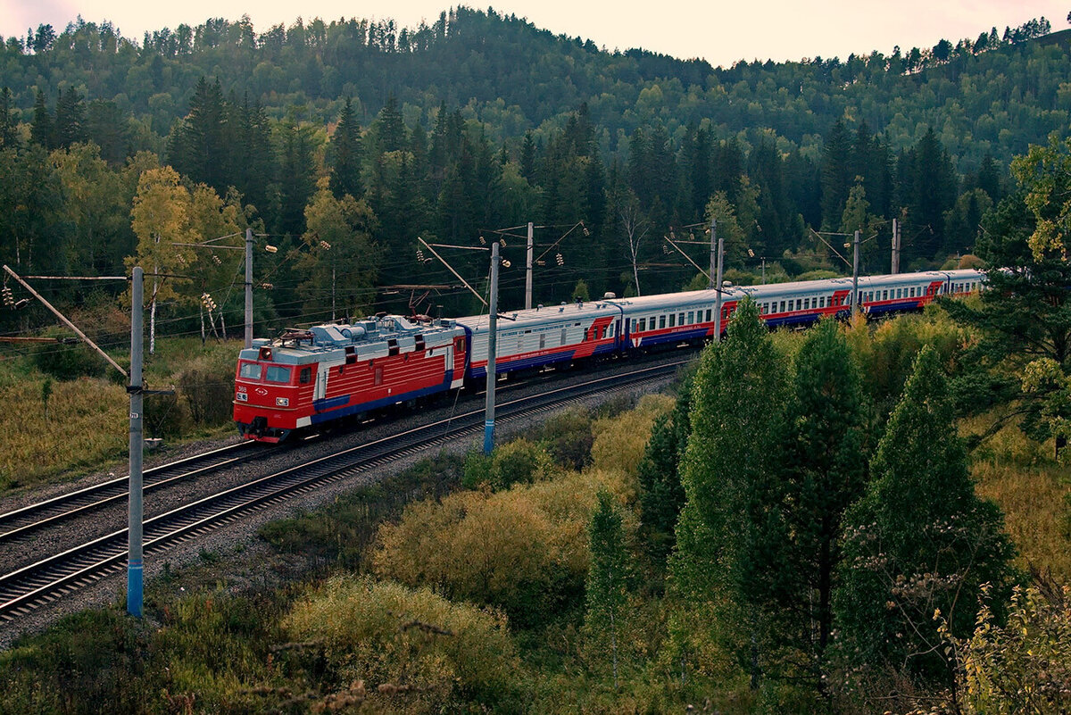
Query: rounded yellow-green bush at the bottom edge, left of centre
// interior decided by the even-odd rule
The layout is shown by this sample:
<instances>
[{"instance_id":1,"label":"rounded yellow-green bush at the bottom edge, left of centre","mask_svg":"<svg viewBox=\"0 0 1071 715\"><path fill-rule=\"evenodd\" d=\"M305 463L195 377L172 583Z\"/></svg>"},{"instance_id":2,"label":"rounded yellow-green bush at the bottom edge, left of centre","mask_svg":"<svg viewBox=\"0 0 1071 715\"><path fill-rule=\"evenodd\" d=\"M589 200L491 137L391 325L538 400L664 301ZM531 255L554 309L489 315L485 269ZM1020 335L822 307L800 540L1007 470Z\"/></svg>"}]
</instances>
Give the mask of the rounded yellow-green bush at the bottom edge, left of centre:
<instances>
[{"instance_id":1,"label":"rounded yellow-green bush at the bottom edge, left of centre","mask_svg":"<svg viewBox=\"0 0 1071 715\"><path fill-rule=\"evenodd\" d=\"M369 704L391 712L516 705L521 661L504 617L429 589L331 578L299 600L283 626L296 641L320 642L328 679L365 681Z\"/></svg>"}]
</instances>

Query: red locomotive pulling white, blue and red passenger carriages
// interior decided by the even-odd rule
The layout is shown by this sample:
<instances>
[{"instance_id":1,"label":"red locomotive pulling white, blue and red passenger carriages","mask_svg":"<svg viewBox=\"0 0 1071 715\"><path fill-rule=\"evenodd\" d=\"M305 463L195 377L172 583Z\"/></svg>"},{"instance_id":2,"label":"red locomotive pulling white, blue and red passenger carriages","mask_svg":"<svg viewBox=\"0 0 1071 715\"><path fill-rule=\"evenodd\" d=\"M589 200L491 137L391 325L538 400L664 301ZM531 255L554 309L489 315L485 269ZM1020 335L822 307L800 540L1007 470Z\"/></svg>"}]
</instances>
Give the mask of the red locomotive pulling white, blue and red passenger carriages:
<instances>
[{"instance_id":1,"label":"red locomotive pulling white, blue and red passenger carriages","mask_svg":"<svg viewBox=\"0 0 1071 715\"><path fill-rule=\"evenodd\" d=\"M854 302L870 317L922 309L941 295L982 289L975 270L828 278L722 290L721 330L750 296L771 329L847 317ZM495 372L522 375L621 358L713 337L716 291L576 301L498 314ZM379 314L256 339L239 353L235 423L245 439L280 442L297 431L479 384L487 375L486 315L431 319Z\"/></svg>"}]
</instances>

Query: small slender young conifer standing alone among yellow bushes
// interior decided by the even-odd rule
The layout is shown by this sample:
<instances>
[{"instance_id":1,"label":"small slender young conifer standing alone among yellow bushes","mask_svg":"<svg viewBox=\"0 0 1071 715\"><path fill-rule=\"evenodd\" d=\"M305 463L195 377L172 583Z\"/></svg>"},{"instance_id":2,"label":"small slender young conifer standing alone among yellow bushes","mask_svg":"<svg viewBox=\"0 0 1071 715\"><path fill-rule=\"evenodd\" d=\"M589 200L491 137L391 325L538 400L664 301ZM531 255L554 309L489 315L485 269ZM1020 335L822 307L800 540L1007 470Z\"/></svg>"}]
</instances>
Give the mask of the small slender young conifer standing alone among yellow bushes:
<instances>
[{"instance_id":1,"label":"small slender young conifer standing alone among yellow bushes","mask_svg":"<svg viewBox=\"0 0 1071 715\"><path fill-rule=\"evenodd\" d=\"M614 498L600 491L595 511L588 527L588 548L591 553L588 578L585 582L587 614L584 620L589 638L605 643L609 650L614 668L614 689L618 684L618 634L628 596L627 567L628 553L624 548L624 532L621 514L614 504Z\"/></svg>"}]
</instances>

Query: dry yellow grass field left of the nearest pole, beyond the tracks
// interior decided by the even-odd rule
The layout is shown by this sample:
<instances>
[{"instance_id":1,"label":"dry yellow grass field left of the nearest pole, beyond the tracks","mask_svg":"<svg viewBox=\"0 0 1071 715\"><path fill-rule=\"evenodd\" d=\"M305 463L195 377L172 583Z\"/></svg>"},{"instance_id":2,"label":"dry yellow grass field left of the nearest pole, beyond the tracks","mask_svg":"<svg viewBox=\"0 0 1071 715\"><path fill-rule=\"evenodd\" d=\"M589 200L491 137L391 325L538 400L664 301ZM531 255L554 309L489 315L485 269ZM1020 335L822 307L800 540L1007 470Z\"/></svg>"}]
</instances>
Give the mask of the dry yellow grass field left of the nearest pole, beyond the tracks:
<instances>
[{"instance_id":1,"label":"dry yellow grass field left of the nearest pole, beyond the tracks","mask_svg":"<svg viewBox=\"0 0 1071 715\"><path fill-rule=\"evenodd\" d=\"M0 490L126 452L129 397L121 385L89 378L52 382L45 419L43 384L28 378L0 387Z\"/></svg>"}]
</instances>

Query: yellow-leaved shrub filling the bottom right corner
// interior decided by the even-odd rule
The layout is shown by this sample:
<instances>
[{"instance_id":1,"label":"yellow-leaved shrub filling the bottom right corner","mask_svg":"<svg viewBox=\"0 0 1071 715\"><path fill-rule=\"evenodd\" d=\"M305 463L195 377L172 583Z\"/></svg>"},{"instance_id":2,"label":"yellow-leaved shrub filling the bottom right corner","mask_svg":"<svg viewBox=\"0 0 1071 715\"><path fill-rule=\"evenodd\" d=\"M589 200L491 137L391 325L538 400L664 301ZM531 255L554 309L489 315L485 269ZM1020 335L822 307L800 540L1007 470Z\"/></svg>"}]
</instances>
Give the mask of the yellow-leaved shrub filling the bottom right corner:
<instances>
[{"instance_id":1,"label":"yellow-leaved shrub filling the bottom right corner","mask_svg":"<svg viewBox=\"0 0 1071 715\"><path fill-rule=\"evenodd\" d=\"M960 646L960 705L967 715L1071 712L1071 589L1049 597L1016 589L1008 624L983 606Z\"/></svg>"}]
</instances>

